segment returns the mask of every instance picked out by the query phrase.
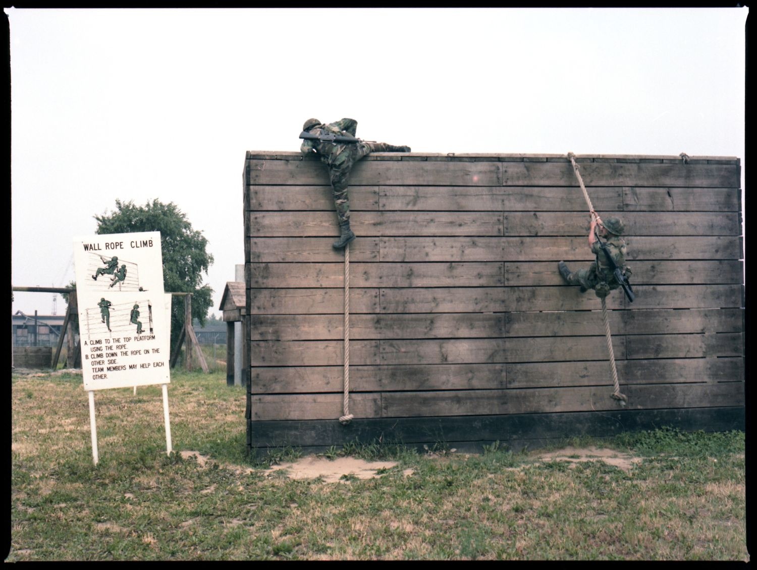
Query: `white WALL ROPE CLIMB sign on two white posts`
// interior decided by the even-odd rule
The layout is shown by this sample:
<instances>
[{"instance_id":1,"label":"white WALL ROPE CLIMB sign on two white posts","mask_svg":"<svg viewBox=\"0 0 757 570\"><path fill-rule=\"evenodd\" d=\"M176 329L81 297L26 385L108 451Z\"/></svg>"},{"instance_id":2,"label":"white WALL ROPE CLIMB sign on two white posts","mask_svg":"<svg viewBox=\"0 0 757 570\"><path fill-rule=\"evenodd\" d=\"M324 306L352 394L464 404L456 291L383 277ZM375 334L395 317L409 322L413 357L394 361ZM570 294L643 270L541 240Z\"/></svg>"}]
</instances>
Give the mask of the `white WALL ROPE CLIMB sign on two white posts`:
<instances>
[{"instance_id":1,"label":"white WALL ROPE CLIMB sign on two white posts","mask_svg":"<svg viewBox=\"0 0 757 570\"><path fill-rule=\"evenodd\" d=\"M170 454L171 296L163 290L160 232L73 240L84 389L89 392L92 460L98 463L95 390L163 386Z\"/></svg>"}]
</instances>

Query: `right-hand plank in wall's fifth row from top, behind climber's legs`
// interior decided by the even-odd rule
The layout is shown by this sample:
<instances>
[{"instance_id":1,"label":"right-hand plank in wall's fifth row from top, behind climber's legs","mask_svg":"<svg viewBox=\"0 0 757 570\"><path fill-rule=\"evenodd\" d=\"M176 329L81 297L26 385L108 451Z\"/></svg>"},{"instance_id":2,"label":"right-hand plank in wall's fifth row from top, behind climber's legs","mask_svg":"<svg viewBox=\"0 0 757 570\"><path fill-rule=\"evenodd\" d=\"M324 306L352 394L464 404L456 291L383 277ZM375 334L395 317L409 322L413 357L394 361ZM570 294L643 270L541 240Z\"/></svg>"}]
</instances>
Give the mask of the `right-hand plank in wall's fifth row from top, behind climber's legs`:
<instances>
[{"instance_id":1,"label":"right-hand plank in wall's fifth row from top, behind climber's legs","mask_svg":"<svg viewBox=\"0 0 757 570\"><path fill-rule=\"evenodd\" d=\"M628 264L633 271L631 283L637 285L724 284L743 283L743 262L723 261L647 261ZM585 263L569 265L571 271L584 268ZM505 262L505 284L508 286L560 285L565 283L555 262ZM452 285L453 283L445 283ZM481 283L484 284L484 283ZM400 286L398 286L400 287ZM404 286L403 286L404 287ZM431 285L428 285L431 287Z\"/></svg>"}]
</instances>

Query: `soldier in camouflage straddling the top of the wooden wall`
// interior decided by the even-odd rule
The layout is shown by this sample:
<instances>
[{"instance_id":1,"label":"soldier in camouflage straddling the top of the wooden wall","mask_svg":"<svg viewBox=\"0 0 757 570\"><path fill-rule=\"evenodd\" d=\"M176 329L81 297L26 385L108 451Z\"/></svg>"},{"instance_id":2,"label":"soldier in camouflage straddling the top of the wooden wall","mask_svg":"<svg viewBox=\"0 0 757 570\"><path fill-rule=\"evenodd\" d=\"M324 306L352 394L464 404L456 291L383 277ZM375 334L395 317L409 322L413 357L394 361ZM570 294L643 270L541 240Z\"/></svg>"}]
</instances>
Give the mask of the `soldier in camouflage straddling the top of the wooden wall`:
<instances>
[{"instance_id":1,"label":"soldier in camouflage straddling the top of the wooden wall","mask_svg":"<svg viewBox=\"0 0 757 570\"><path fill-rule=\"evenodd\" d=\"M355 138L356 132L355 119L341 119L329 122L328 125L318 119L307 119L300 133L300 138L304 139L300 147L301 153L306 156L315 153L329 169L341 233L339 239L332 244L335 249L344 249L347 243L355 239L355 234L350 230L350 197L347 194L348 178L354 164L370 153L410 152L410 147L363 141Z\"/></svg>"}]
</instances>

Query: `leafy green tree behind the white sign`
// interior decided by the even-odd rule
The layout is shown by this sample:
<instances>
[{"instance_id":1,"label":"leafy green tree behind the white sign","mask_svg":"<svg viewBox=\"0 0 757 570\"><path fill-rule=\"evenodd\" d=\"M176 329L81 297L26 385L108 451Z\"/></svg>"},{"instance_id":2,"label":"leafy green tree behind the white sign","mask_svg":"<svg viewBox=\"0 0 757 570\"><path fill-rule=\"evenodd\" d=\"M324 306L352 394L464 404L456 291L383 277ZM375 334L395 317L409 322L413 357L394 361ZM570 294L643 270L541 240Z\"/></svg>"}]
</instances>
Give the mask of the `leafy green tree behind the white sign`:
<instances>
[{"instance_id":1,"label":"leafy green tree behind the white sign","mask_svg":"<svg viewBox=\"0 0 757 570\"><path fill-rule=\"evenodd\" d=\"M160 231L163 252L163 282L166 293L192 293L192 317L205 324L207 311L213 305L213 289L202 284L202 273L213 264L207 252L207 239L192 229L186 215L176 204L152 200L145 206L133 201L116 200L111 214L95 215L98 234L126 234L137 231ZM184 298L171 301L171 352L176 348L184 327Z\"/></svg>"}]
</instances>

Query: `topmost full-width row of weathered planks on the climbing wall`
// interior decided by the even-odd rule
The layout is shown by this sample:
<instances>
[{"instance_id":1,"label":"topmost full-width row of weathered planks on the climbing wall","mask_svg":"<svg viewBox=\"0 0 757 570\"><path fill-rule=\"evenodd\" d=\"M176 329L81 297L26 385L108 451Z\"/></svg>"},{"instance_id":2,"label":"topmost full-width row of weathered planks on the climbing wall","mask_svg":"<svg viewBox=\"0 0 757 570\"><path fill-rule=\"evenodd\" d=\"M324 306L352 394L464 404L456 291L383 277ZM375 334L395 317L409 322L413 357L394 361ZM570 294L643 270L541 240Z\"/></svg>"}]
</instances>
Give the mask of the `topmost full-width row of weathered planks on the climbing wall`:
<instances>
[{"instance_id":1,"label":"topmost full-width row of weathered planks on the climbing wall","mask_svg":"<svg viewBox=\"0 0 757 570\"><path fill-rule=\"evenodd\" d=\"M580 163L587 187L738 187L735 164ZM449 184L452 186L578 186L567 162L446 162L362 160L350 178L354 184ZM249 159L247 184L327 184L318 160Z\"/></svg>"}]
</instances>

